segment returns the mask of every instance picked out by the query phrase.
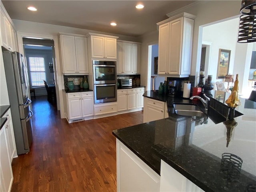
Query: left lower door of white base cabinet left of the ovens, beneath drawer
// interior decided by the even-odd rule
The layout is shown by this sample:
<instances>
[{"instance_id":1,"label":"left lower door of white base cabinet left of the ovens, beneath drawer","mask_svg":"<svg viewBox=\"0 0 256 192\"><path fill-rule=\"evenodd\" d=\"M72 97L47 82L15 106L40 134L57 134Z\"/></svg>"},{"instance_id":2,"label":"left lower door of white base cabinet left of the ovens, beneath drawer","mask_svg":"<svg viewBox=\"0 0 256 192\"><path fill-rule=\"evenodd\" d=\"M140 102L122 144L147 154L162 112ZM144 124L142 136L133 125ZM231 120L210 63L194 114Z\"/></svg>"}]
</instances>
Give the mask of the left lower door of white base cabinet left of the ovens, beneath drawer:
<instances>
[{"instance_id":1,"label":"left lower door of white base cabinet left of the ovens, beneath drawer","mask_svg":"<svg viewBox=\"0 0 256 192\"><path fill-rule=\"evenodd\" d=\"M82 117L81 98L68 99L69 119Z\"/></svg>"}]
</instances>

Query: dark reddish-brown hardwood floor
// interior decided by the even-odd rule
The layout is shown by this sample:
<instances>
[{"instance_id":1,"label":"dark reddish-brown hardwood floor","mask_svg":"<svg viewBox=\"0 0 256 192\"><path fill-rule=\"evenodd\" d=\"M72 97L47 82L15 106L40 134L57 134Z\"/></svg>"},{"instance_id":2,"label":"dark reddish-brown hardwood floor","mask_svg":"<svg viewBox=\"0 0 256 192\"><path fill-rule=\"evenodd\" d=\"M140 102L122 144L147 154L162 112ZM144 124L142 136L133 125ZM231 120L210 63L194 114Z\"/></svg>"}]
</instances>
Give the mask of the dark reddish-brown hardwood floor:
<instances>
[{"instance_id":1,"label":"dark reddish-brown hardwood floor","mask_svg":"<svg viewBox=\"0 0 256 192\"><path fill-rule=\"evenodd\" d=\"M112 130L142 123L143 112L68 124L46 97L32 105L31 151L12 160L12 191L116 191Z\"/></svg>"}]
</instances>

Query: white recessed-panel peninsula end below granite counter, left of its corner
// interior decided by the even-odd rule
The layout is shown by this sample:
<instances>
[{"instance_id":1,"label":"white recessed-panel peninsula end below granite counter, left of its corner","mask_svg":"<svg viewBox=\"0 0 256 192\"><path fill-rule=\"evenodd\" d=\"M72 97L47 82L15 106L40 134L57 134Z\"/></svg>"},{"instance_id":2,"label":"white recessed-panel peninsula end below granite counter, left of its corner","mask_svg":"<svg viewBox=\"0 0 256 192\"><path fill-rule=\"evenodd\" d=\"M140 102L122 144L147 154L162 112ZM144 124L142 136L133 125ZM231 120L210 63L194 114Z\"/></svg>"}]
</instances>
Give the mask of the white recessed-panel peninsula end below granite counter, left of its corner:
<instances>
[{"instance_id":1,"label":"white recessed-panel peninsula end below granite counter, left of its corner","mask_svg":"<svg viewBox=\"0 0 256 192\"><path fill-rule=\"evenodd\" d=\"M159 191L160 176L116 139L117 191Z\"/></svg>"}]
</instances>

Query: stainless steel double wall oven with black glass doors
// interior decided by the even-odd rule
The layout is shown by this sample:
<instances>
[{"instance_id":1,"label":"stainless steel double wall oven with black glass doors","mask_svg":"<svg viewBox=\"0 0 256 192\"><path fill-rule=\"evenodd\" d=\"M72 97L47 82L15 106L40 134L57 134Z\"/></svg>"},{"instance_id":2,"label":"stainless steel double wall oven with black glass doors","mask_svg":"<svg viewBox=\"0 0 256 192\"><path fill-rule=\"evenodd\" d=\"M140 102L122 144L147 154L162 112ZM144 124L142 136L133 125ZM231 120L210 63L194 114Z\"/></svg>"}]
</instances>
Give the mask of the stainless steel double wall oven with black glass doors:
<instances>
[{"instance_id":1,"label":"stainless steel double wall oven with black glass doors","mask_svg":"<svg viewBox=\"0 0 256 192\"><path fill-rule=\"evenodd\" d=\"M116 61L93 60L94 103L117 100Z\"/></svg>"}]
</instances>

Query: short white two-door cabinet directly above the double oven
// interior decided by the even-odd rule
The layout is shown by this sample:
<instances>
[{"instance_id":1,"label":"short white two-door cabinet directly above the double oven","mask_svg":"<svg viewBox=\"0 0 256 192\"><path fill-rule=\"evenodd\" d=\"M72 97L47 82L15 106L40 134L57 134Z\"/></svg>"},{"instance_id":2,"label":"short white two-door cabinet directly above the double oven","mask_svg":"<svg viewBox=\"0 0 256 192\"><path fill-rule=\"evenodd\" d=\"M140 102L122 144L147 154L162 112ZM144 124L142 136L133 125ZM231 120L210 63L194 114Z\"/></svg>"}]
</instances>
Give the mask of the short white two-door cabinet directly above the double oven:
<instances>
[{"instance_id":1,"label":"short white two-door cabinet directly above the double oven","mask_svg":"<svg viewBox=\"0 0 256 192\"><path fill-rule=\"evenodd\" d=\"M116 59L116 36L89 33L91 58Z\"/></svg>"}]
</instances>

